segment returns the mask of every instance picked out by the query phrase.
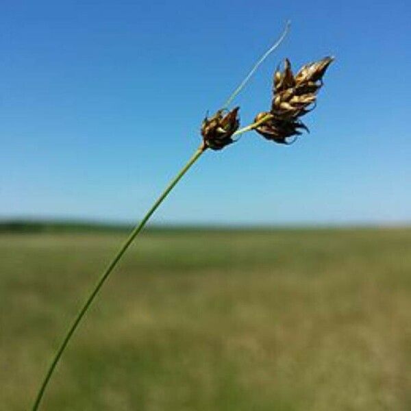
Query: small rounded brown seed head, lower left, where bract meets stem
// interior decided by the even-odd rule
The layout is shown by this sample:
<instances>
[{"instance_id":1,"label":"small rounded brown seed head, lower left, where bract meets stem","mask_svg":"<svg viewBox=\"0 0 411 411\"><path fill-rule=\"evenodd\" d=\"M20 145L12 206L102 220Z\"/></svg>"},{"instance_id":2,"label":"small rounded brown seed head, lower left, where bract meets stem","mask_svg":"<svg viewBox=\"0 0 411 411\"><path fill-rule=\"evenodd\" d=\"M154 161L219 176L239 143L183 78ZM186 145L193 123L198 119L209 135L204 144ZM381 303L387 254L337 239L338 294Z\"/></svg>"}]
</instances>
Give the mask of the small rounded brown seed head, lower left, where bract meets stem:
<instances>
[{"instance_id":1,"label":"small rounded brown seed head, lower left, where bract meets stem","mask_svg":"<svg viewBox=\"0 0 411 411\"><path fill-rule=\"evenodd\" d=\"M201 136L205 148L221 150L225 146L234 142L232 135L240 126L238 118L239 107L224 114L224 110L219 110L214 116L203 120L201 125Z\"/></svg>"}]
</instances>

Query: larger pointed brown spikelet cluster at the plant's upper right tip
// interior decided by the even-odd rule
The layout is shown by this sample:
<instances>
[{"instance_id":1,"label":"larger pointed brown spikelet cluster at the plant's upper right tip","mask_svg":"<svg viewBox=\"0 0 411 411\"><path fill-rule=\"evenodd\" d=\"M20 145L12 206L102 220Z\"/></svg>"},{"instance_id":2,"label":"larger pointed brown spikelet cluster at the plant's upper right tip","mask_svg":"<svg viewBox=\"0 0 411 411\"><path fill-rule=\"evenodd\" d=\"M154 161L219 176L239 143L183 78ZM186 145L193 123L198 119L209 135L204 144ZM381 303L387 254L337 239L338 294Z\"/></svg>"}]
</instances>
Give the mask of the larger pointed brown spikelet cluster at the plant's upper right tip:
<instances>
[{"instance_id":1,"label":"larger pointed brown spikelet cluster at the plant's upper right tip","mask_svg":"<svg viewBox=\"0 0 411 411\"><path fill-rule=\"evenodd\" d=\"M271 119L262 123L256 131L268 140L287 144L287 138L299 136L301 129L308 128L299 119L314 108L316 93L323 86L323 75L334 58L326 57L319 62L302 66L296 75L292 73L288 59L284 71L274 73L273 102L269 113L262 112L255 121L271 114Z\"/></svg>"}]
</instances>

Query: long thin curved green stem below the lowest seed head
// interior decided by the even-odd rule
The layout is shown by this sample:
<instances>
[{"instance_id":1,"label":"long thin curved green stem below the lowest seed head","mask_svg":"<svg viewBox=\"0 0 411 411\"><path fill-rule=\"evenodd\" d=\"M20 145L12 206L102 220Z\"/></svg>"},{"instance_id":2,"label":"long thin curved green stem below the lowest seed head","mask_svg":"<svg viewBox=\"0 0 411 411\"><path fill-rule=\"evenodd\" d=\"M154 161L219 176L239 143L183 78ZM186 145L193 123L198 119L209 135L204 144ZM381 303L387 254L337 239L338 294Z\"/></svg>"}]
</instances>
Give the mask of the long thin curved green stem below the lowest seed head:
<instances>
[{"instance_id":1,"label":"long thin curved green stem below the lowest seed head","mask_svg":"<svg viewBox=\"0 0 411 411\"><path fill-rule=\"evenodd\" d=\"M200 155L204 152L205 148L203 146L199 147L197 151L192 155L190 160L188 160L187 164L182 168L182 170L174 177L174 179L170 182L169 186L162 192L162 195L158 197L158 200L155 201L153 206L150 208L150 210L147 212L145 217L142 219L142 221L136 225L136 227L133 229L127 240L125 240L124 244L121 246L119 251L117 251L116 256L112 259L110 264L108 264L107 268L105 269L103 275L101 275L99 281L95 285L95 288L92 290L91 294L89 295L86 303L84 303L84 306L82 307L81 310L79 310L79 313L77 314L75 321L69 328L69 330L66 333L66 336L64 337L64 340L62 341L62 344L60 345L58 351L55 353L55 356L53 358L53 361L51 362L49 369L47 371L47 374L45 375L45 379L43 380L40 389L38 390L37 396L36 396L36 401L34 401L34 405L32 407L32 411L38 410L38 406L40 405L40 401L45 393L45 389L47 387L47 384L49 383L49 380L51 378L51 375L53 375L53 371L55 370L55 366L57 366L62 353L64 352L64 349L66 349L66 346L69 344L69 341L71 340L71 337L73 336L75 330L77 329L80 321L82 321L84 314L86 314L88 308L91 306L92 301L94 301L95 297L97 296L99 290L105 283L105 280L108 279L110 273L113 271L114 267L116 264L119 262L125 251L128 249L129 245L132 244L134 238L140 233L140 231L145 227L147 221L149 221L150 217L153 215L153 212L157 210L158 206L164 201L164 199L169 195L169 192L173 190L175 185L179 182L180 179L184 176L184 174L187 173L188 169L194 164Z\"/></svg>"}]
</instances>

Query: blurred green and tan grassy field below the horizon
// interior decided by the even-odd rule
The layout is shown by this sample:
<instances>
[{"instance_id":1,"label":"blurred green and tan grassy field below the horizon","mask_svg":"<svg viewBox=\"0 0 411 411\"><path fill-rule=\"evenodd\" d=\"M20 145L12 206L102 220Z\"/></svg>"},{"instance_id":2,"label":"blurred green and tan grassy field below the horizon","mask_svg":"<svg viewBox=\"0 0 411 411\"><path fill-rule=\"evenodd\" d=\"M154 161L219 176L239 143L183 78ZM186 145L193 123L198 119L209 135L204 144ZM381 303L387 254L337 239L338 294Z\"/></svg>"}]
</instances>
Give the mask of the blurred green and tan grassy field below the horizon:
<instances>
[{"instance_id":1,"label":"blurred green and tan grassy field below the horizon","mask_svg":"<svg viewBox=\"0 0 411 411\"><path fill-rule=\"evenodd\" d=\"M123 238L0 234L2 411ZM411 410L411 229L145 232L42 410Z\"/></svg>"}]
</instances>

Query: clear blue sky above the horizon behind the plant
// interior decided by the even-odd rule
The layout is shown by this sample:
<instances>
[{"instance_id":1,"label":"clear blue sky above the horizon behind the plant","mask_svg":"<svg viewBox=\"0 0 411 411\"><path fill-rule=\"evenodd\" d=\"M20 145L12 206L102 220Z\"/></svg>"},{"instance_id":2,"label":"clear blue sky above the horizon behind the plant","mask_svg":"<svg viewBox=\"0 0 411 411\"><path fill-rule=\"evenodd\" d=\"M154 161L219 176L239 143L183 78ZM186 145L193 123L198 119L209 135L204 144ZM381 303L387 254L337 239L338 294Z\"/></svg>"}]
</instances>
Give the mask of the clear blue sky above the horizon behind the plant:
<instances>
[{"instance_id":1,"label":"clear blue sky above the horizon behind the plant","mask_svg":"<svg viewBox=\"0 0 411 411\"><path fill-rule=\"evenodd\" d=\"M311 134L207 152L157 223L411 221L411 2L1 1L0 218L134 221L199 144L199 123L292 21L236 100L335 55Z\"/></svg>"}]
</instances>

